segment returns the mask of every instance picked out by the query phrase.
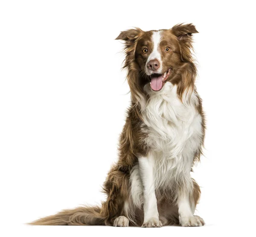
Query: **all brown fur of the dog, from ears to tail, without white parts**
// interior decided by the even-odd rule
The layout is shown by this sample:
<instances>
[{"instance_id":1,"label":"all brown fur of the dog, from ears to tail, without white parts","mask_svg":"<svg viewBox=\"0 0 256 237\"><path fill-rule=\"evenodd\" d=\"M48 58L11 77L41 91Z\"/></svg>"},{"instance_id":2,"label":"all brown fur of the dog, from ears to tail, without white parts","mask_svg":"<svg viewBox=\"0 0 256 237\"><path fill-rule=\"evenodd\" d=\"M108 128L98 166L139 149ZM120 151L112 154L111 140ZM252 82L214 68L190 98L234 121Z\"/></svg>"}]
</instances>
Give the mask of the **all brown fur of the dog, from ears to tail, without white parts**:
<instances>
[{"instance_id":1,"label":"all brown fur of the dog, from ears to tail, without white parts","mask_svg":"<svg viewBox=\"0 0 256 237\"><path fill-rule=\"evenodd\" d=\"M172 29L164 30L166 42L170 44L171 52L162 57L167 62L164 70L172 68L172 74L168 80L177 84L177 94L180 100L184 95L188 95L195 90L196 67L192 58L192 38L193 33L198 33L192 24L179 24ZM125 63L127 69L127 80L131 89L131 107L128 109L125 126L119 138L119 160L111 168L108 177L104 183L103 191L107 194L107 200L102 203L101 207L78 207L73 210L64 210L55 215L44 217L35 222L33 225L113 225L113 220L124 215L124 203L130 197L130 172L138 161L138 157L145 156L148 147L143 143L146 134L141 129L142 118L140 111L143 102L147 101L147 94L143 90L145 83L148 83L148 77L143 72L146 62L146 55L142 49L145 45L149 53L152 50L150 38L153 31L142 31L139 28L122 31L116 40L125 41ZM165 40L165 38L164 38ZM164 47L166 43L160 45ZM196 92L196 91L195 91ZM196 93L197 94L197 93ZM204 112L202 109L201 98L198 97L198 112L202 116L203 133L205 131ZM202 146L204 137L202 139ZM202 148L195 154L194 162L200 160ZM200 198L200 188L193 180L194 190L191 201L198 203ZM158 200L158 210L160 220L163 225L177 225L178 212L175 206L175 200L172 200L171 192L169 197L166 191L156 193ZM166 214L166 210L171 210L171 214ZM134 210L137 217L135 223L130 225L141 226L143 223L143 211Z\"/></svg>"}]
</instances>

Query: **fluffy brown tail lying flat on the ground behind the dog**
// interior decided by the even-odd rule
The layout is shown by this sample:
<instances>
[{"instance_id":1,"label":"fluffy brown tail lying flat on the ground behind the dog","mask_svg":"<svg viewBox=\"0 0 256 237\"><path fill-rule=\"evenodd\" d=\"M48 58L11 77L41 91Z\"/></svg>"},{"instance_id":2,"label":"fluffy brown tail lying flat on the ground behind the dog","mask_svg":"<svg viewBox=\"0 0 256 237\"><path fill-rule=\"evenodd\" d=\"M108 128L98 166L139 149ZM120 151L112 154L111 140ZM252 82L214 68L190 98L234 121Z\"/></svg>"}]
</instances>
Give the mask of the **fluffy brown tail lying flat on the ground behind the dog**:
<instances>
[{"instance_id":1,"label":"fluffy brown tail lying flat on the ground behind the dog","mask_svg":"<svg viewBox=\"0 0 256 237\"><path fill-rule=\"evenodd\" d=\"M29 224L39 226L102 226L105 225L105 217L101 214L99 206L82 206L60 211L55 215L43 217Z\"/></svg>"}]
</instances>

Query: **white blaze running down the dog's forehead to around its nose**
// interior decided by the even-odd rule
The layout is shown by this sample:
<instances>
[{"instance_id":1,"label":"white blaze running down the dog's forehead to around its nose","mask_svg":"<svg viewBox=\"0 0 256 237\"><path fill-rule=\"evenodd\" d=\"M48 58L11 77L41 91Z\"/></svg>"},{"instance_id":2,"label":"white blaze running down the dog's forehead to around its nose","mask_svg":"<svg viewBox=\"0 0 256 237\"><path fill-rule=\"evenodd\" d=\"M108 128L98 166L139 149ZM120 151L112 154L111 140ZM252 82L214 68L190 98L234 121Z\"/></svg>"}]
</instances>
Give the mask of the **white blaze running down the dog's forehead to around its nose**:
<instances>
[{"instance_id":1,"label":"white blaze running down the dog's forehead to around its nose","mask_svg":"<svg viewBox=\"0 0 256 237\"><path fill-rule=\"evenodd\" d=\"M161 60L161 54L160 54L160 48L159 48L159 44L161 42L161 37L162 37L162 31L153 31L151 40L153 42L153 51L151 52L151 54L148 56L148 60L146 63L146 67L148 65L148 62L150 60L156 59L159 61L160 63L160 68L157 71L161 71L162 70L162 60Z\"/></svg>"}]
</instances>

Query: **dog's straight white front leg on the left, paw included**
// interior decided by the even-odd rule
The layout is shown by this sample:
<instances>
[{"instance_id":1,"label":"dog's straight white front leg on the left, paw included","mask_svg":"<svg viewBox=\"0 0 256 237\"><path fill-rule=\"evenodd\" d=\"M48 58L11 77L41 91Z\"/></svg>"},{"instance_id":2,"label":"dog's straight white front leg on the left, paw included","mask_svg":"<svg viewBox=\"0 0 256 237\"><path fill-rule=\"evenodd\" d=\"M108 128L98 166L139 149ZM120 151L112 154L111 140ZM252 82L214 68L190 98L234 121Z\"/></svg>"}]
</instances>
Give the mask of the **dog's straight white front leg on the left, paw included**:
<instances>
[{"instance_id":1,"label":"dog's straight white front leg on the left, paw included","mask_svg":"<svg viewBox=\"0 0 256 237\"><path fill-rule=\"evenodd\" d=\"M154 157L150 152L139 158L140 177L143 184L144 223L142 227L161 227L157 211L157 198L154 186Z\"/></svg>"}]
</instances>

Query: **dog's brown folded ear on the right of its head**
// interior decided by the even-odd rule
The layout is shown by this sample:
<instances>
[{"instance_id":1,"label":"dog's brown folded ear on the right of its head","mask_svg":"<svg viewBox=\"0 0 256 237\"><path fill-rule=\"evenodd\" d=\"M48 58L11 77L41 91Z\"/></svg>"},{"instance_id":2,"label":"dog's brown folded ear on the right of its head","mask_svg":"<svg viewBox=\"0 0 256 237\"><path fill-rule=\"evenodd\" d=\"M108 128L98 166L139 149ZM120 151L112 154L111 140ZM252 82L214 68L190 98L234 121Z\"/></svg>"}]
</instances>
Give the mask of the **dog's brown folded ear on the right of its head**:
<instances>
[{"instance_id":1,"label":"dog's brown folded ear on the right of its head","mask_svg":"<svg viewBox=\"0 0 256 237\"><path fill-rule=\"evenodd\" d=\"M172 33L178 40L189 40L192 34L198 33L193 24L177 24L172 27Z\"/></svg>"}]
</instances>

